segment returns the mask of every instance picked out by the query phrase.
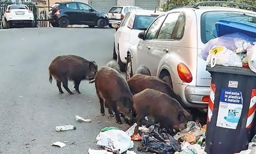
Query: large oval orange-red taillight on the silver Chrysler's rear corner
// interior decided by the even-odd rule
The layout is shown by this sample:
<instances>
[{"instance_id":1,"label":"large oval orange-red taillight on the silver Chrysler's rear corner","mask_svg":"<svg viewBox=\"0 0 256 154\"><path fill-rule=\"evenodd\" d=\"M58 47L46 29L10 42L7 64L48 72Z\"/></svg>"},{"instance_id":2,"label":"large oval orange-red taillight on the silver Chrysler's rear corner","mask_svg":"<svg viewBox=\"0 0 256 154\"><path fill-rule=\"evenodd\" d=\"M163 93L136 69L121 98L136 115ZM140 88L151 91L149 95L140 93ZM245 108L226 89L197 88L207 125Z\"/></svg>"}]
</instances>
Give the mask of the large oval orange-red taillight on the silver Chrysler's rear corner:
<instances>
[{"instance_id":1,"label":"large oval orange-red taillight on the silver Chrysler's rear corner","mask_svg":"<svg viewBox=\"0 0 256 154\"><path fill-rule=\"evenodd\" d=\"M184 81L186 83L190 83L192 81L192 79L193 79L192 74L185 64L179 63L177 66L177 71L178 71L178 75L182 81Z\"/></svg>"}]
</instances>

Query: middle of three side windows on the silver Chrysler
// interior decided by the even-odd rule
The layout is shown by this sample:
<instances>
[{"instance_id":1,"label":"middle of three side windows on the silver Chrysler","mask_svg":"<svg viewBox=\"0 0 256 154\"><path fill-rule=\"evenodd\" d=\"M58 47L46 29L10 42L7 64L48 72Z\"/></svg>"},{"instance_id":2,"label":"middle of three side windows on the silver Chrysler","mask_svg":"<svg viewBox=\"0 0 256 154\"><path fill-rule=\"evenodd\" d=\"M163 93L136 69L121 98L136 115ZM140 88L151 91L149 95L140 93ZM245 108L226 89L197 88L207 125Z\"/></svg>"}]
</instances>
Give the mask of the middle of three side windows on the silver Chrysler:
<instances>
[{"instance_id":1,"label":"middle of three side windows on the silver Chrysler","mask_svg":"<svg viewBox=\"0 0 256 154\"><path fill-rule=\"evenodd\" d=\"M179 18L180 12L169 13L158 33L157 39L169 40Z\"/></svg>"}]
</instances>

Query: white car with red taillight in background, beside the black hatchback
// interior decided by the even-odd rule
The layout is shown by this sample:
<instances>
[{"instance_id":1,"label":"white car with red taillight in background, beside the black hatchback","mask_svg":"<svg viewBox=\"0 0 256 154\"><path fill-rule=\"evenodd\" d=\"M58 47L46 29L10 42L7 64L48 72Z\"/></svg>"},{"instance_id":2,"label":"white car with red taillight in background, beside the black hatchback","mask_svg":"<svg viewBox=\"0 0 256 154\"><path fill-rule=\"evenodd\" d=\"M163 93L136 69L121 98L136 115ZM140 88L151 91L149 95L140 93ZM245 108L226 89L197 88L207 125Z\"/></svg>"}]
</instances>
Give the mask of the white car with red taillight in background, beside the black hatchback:
<instances>
[{"instance_id":1,"label":"white car with red taillight in background, beside the black hatchback","mask_svg":"<svg viewBox=\"0 0 256 154\"><path fill-rule=\"evenodd\" d=\"M142 10L137 6L113 6L108 11L109 27L112 28L112 24L120 24L126 13L131 10Z\"/></svg>"}]
</instances>

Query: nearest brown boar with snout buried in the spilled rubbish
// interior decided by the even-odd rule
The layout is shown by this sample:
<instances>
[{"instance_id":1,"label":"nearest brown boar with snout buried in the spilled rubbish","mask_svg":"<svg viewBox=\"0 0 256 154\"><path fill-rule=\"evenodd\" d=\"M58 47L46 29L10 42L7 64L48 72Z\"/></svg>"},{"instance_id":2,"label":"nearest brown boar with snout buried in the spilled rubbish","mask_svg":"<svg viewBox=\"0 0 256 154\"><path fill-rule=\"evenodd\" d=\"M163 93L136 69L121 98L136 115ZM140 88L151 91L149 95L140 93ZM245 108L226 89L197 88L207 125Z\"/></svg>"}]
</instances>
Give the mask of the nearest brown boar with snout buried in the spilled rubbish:
<instances>
[{"instance_id":1,"label":"nearest brown boar with snout buried in the spilled rubbish","mask_svg":"<svg viewBox=\"0 0 256 154\"><path fill-rule=\"evenodd\" d=\"M169 95L154 89L145 89L133 95L133 107L137 114L137 124L146 116L153 118L167 129L169 133L175 130L183 130L186 123L192 120L192 116L180 105L180 103Z\"/></svg>"}]
</instances>

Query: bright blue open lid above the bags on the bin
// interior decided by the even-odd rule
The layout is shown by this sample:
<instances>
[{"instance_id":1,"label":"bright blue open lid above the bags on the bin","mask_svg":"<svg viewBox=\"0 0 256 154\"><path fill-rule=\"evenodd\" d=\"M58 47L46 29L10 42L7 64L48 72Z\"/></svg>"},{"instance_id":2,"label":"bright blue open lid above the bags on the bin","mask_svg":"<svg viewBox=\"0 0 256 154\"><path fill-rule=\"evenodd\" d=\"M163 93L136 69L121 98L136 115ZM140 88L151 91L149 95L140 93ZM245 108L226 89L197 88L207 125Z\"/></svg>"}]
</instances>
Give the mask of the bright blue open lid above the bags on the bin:
<instances>
[{"instance_id":1,"label":"bright blue open lid above the bags on the bin","mask_svg":"<svg viewBox=\"0 0 256 154\"><path fill-rule=\"evenodd\" d=\"M219 20L215 23L215 27L218 37L239 32L249 37L256 38L256 27L244 23Z\"/></svg>"}]
</instances>

